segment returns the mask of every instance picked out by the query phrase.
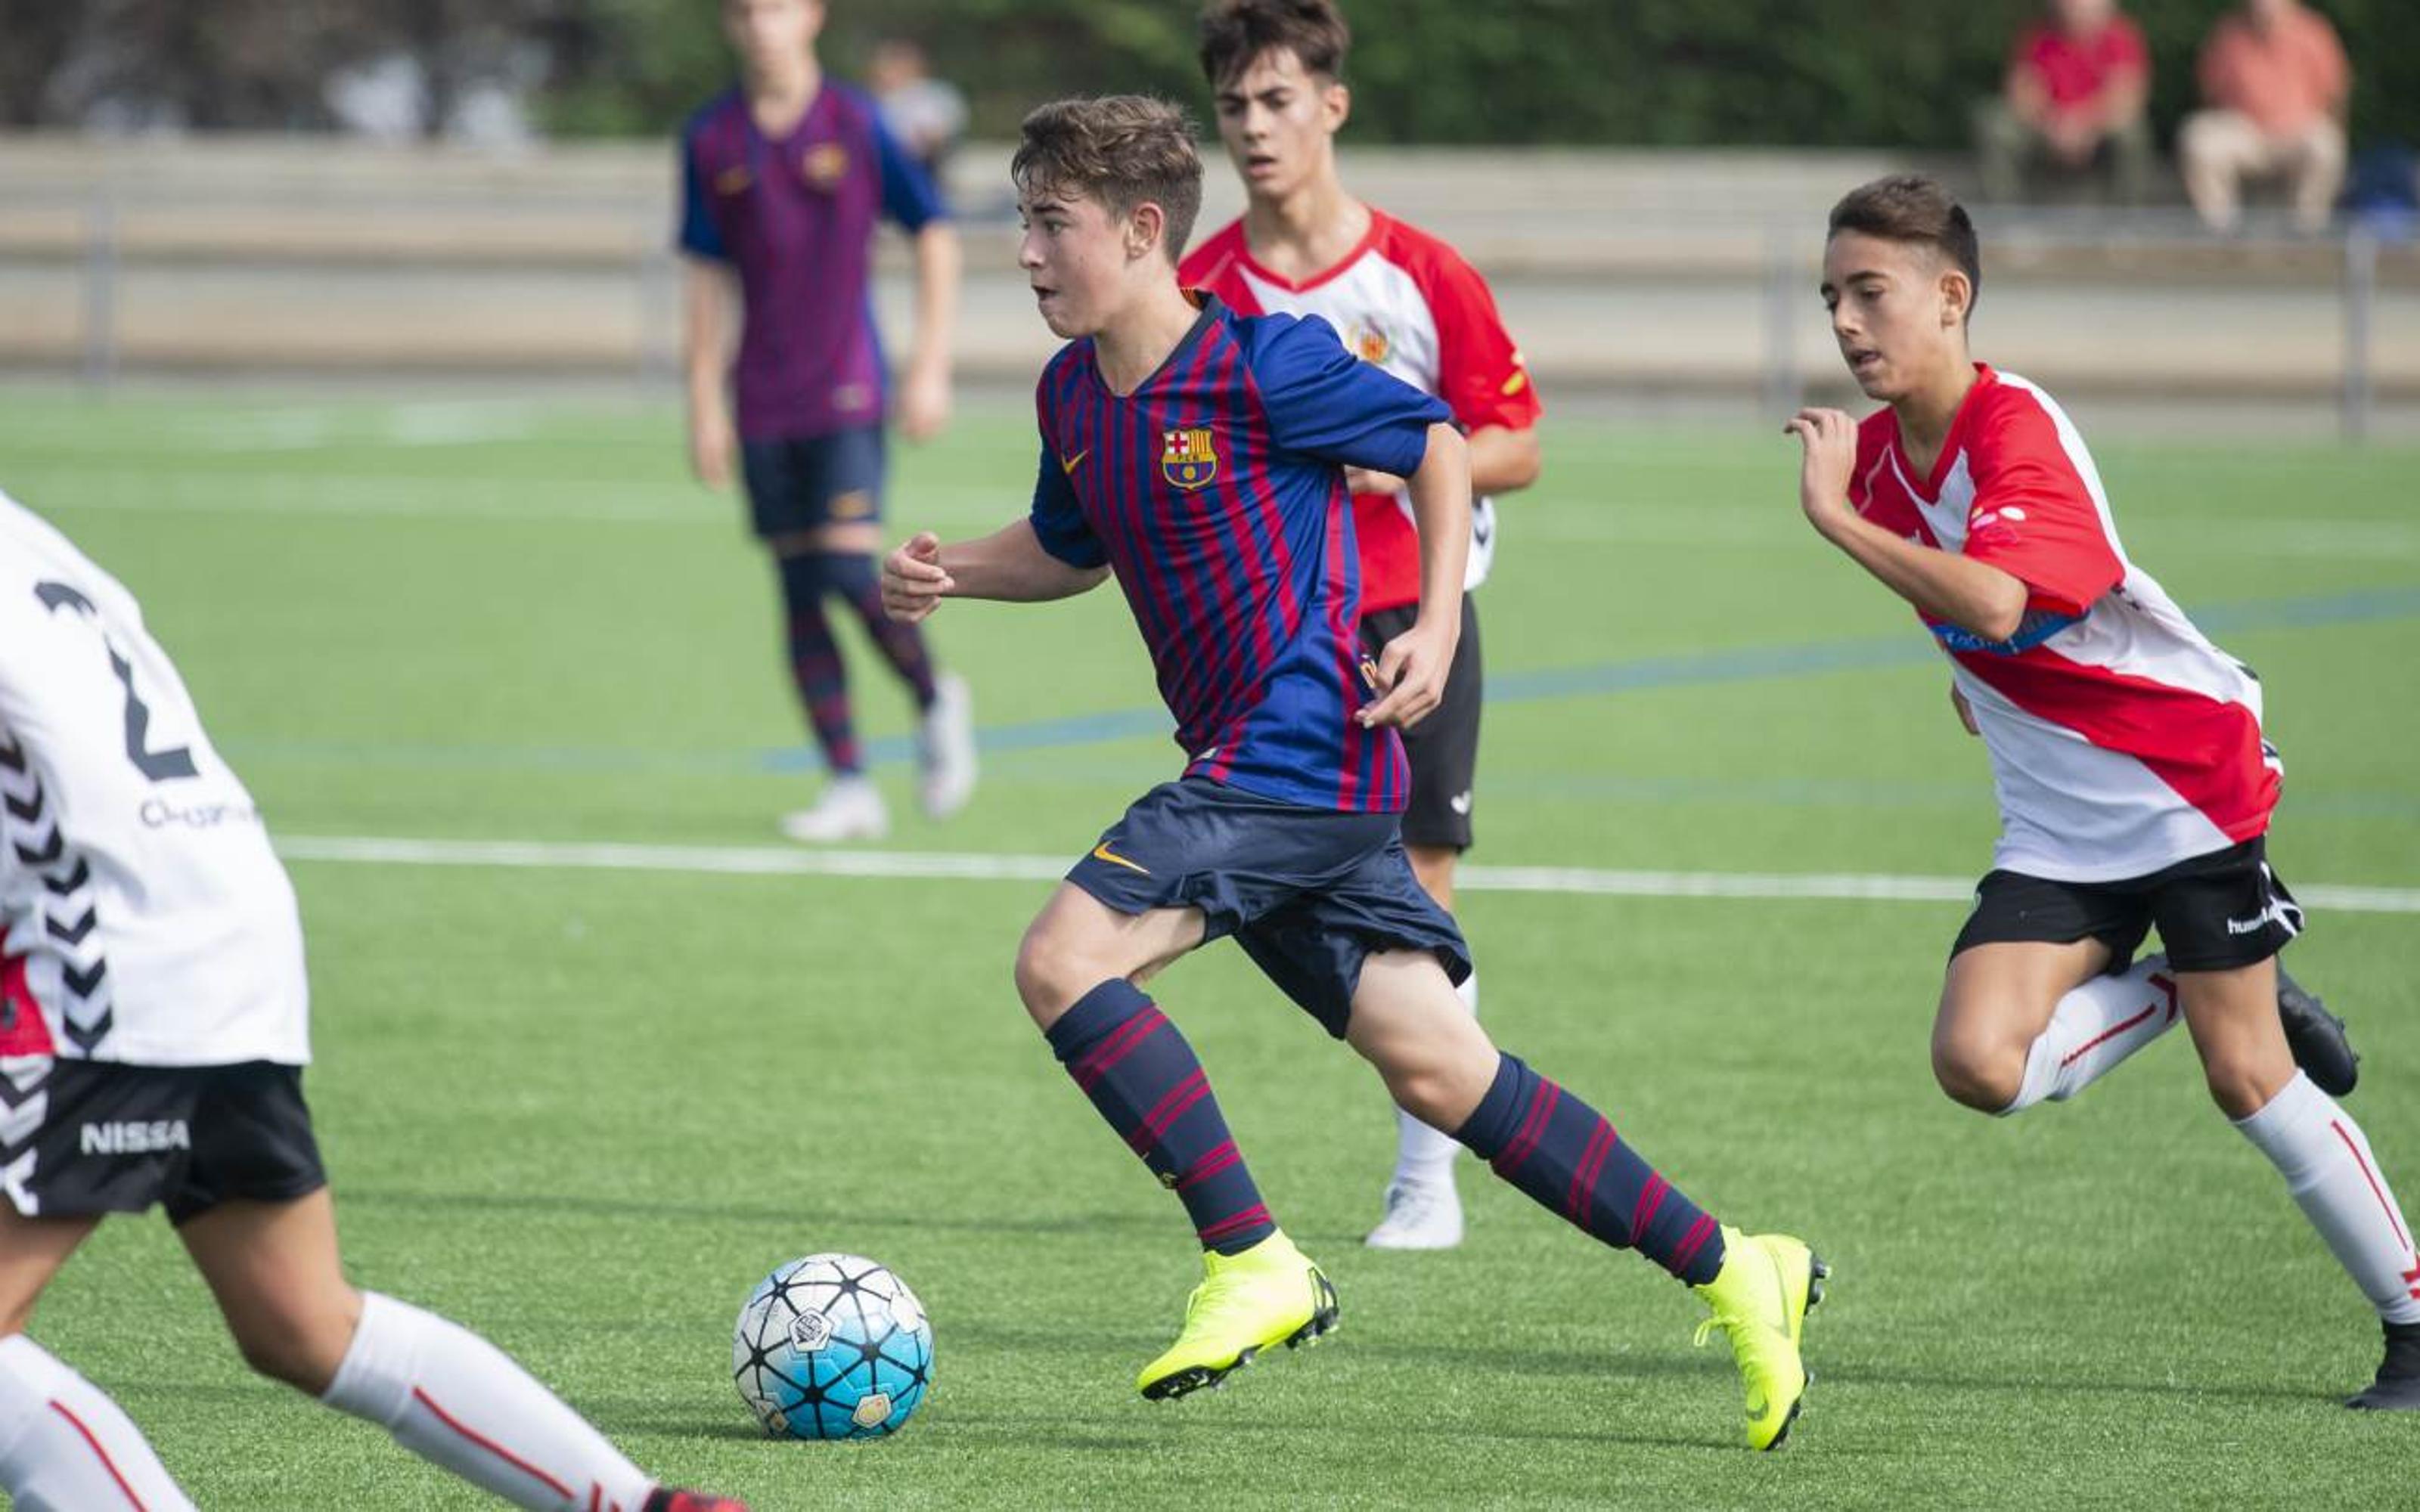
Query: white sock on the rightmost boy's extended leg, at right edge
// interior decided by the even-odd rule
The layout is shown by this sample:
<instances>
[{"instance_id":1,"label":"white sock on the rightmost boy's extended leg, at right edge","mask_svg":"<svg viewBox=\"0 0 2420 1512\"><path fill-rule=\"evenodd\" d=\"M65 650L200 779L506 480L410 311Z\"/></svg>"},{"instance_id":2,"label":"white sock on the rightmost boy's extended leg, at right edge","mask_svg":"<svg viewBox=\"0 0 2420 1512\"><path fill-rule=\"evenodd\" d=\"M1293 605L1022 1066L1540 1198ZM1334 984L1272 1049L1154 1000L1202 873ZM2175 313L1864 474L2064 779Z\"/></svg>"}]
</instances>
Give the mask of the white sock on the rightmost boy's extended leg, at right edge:
<instances>
[{"instance_id":1,"label":"white sock on the rightmost boy's extended leg, at right edge","mask_svg":"<svg viewBox=\"0 0 2420 1512\"><path fill-rule=\"evenodd\" d=\"M2362 1125L2294 1072L2284 1091L2236 1127L2277 1166L2284 1190L2379 1316L2420 1323L2420 1256Z\"/></svg>"}]
</instances>

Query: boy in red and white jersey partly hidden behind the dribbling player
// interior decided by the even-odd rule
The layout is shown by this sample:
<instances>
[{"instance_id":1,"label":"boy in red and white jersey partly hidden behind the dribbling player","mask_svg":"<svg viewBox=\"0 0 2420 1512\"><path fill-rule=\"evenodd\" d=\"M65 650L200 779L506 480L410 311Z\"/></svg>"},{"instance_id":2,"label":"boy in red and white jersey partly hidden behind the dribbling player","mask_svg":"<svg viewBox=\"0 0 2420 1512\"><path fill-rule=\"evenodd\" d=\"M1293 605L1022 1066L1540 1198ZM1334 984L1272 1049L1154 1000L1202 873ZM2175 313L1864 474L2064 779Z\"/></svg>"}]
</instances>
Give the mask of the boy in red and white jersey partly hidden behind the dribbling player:
<instances>
[{"instance_id":1,"label":"boy in red and white jersey partly hidden behind the dribbling player","mask_svg":"<svg viewBox=\"0 0 2420 1512\"><path fill-rule=\"evenodd\" d=\"M1350 31L1331 0L1210 0L1200 19L1203 75L1217 128L1244 179L1241 220L1195 247L1186 288L1244 314L1319 314L1367 363L1445 399L1471 450L1471 554L1462 641L1435 714L1404 731L1411 803L1404 849L1442 907L1454 861L1471 844L1479 767L1479 614L1469 590L1496 554L1491 494L1537 479L1537 389L1496 317L1496 298L1462 254L1346 194L1336 131L1350 114L1343 60ZM1360 542L1362 646L1377 656L1411 629L1421 602L1421 542L1404 479L1350 469ZM1479 1011L1479 977L1462 982ZM1377 1248L1462 1243L1452 1159L1459 1144L1396 1115L1396 1164Z\"/></svg>"}]
</instances>

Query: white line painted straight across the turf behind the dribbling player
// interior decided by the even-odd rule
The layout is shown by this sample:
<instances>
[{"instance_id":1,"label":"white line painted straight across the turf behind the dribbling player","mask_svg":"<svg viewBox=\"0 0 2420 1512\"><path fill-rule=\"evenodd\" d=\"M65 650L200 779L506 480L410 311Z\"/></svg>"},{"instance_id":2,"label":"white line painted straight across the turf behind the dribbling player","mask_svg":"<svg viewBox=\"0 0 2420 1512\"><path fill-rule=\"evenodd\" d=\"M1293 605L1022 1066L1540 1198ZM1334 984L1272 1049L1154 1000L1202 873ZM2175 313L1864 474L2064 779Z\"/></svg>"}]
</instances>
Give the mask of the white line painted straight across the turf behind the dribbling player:
<instances>
[{"instance_id":1,"label":"white line painted straight across the turf behind the dribbling player","mask_svg":"<svg viewBox=\"0 0 2420 1512\"><path fill-rule=\"evenodd\" d=\"M1072 856L983 852L811 852L709 844L566 844L544 839L380 839L361 835L286 835L288 861L363 861L378 866L515 866L564 871L680 871L702 876L871 876L990 883L1045 883ZM1600 871L1588 866L1464 866L1454 885L1471 893L1563 893L1578 898L1832 898L1873 902L1965 902L1975 883L1958 876L1871 871ZM2420 914L2420 888L2343 888L2299 883L2294 895L2318 910Z\"/></svg>"}]
</instances>

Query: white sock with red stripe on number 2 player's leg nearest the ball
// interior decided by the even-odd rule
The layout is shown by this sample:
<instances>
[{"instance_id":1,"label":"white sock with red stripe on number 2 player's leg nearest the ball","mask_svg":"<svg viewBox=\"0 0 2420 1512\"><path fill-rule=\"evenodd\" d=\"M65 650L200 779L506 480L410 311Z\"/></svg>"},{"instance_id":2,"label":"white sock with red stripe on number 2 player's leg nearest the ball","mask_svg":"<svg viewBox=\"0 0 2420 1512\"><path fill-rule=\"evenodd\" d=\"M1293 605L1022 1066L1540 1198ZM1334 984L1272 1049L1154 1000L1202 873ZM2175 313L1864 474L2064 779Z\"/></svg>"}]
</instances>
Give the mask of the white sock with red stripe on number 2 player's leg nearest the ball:
<instances>
[{"instance_id":1,"label":"white sock with red stripe on number 2 player's leg nearest the ball","mask_svg":"<svg viewBox=\"0 0 2420 1512\"><path fill-rule=\"evenodd\" d=\"M319 1401L515 1507L639 1512L656 1488L511 1355L378 1292Z\"/></svg>"}]
</instances>

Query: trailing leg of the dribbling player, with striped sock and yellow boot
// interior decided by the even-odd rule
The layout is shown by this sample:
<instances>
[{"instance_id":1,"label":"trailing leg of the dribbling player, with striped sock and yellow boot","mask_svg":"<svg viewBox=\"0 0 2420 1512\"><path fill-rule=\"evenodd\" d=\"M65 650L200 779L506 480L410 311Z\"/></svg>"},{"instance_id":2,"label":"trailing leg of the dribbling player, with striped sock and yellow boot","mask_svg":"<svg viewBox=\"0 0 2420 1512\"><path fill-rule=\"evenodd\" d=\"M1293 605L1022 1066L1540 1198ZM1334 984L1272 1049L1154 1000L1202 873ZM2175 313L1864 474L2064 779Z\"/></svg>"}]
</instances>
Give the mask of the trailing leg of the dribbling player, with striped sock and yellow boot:
<instances>
[{"instance_id":1,"label":"trailing leg of the dribbling player, with striped sock and yellow boot","mask_svg":"<svg viewBox=\"0 0 2420 1512\"><path fill-rule=\"evenodd\" d=\"M1689 1282L1713 1311L1711 1326L1730 1335L1747 1442L1781 1442L1808 1384L1798 1331L1822 1297L1822 1268L1803 1241L1718 1227L1604 1115L1496 1050L1428 951L1362 960L1346 1043L1377 1067L1401 1108L1454 1130L1539 1207Z\"/></svg>"}]
</instances>

